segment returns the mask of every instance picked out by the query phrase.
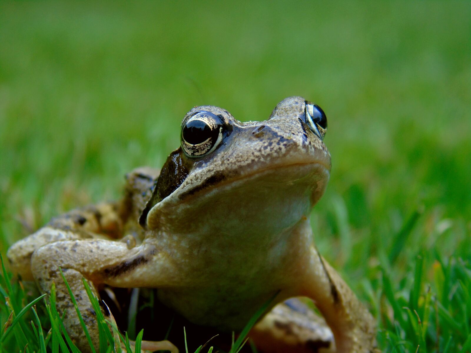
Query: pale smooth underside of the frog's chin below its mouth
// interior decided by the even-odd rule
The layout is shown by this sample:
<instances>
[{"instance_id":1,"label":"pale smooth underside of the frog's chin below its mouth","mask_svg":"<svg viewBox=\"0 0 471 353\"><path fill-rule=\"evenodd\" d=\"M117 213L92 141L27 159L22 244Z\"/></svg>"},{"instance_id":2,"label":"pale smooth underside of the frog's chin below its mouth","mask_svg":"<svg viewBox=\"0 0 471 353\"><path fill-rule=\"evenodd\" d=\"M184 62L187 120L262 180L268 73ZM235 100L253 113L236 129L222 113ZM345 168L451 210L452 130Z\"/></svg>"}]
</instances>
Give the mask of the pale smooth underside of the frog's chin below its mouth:
<instances>
[{"instance_id":1,"label":"pale smooth underside of the frog's chin below its mouth","mask_svg":"<svg viewBox=\"0 0 471 353\"><path fill-rule=\"evenodd\" d=\"M330 168L323 163L293 163L215 181L199 189L177 190L149 211L147 226L162 229L175 225L181 229L172 232L188 233L198 231L193 228L202 224L221 233L240 232L247 226L251 233L276 232L309 214L324 193L329 176ZM192 222L195 217L208 222ZM213 223L213 219L218 222ZM221 224L221 219L226 222Z\"/></svg>"}]
</instances>

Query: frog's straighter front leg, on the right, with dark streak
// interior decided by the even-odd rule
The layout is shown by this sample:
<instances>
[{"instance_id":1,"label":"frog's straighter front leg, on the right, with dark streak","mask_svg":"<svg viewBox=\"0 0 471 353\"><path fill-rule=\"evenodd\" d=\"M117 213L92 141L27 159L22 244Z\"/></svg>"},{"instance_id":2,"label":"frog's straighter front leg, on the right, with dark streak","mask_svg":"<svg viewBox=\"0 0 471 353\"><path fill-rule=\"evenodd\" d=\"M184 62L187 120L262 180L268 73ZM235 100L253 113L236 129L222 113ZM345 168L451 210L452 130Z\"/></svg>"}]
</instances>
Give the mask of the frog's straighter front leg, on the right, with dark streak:
<instances>
[{"instance_id":1,"label":"frog's straighter front leg, on the right, with dark streak","mask_svg":"<svg viewBox=\"0 0 471 353\"><path fill-rule=\"evenodd\" d=\"M332 329L338 353L371 353L376 323L339 274L312 246L298 295L312 298Z\"/></svg>"}]
</instances>

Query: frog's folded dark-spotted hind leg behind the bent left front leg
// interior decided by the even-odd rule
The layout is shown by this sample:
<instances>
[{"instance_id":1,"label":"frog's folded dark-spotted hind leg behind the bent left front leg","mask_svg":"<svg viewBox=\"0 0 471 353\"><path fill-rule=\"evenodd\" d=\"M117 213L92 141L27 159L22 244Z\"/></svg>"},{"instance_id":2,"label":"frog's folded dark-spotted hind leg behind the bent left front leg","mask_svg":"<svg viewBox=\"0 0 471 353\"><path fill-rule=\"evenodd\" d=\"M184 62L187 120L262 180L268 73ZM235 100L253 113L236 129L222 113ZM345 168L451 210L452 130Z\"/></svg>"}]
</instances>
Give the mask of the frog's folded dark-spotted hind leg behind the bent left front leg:
<instances>
[{"instance_id":1,"label":"frog's folded dark-spotted hind leg behind the bent left front leg","mask_svg":"<svg viewBox=\"0 0 471 353\"><path fill-rule=\"evenodd\" d=\"M17 241L8 249L11 269L19 273L23 280L32 281L31 257L41 246L56 241L119 237L123 227L121 209L120 203L106 202L53 218L37 232Z\"/></svg>"}]
</instances>

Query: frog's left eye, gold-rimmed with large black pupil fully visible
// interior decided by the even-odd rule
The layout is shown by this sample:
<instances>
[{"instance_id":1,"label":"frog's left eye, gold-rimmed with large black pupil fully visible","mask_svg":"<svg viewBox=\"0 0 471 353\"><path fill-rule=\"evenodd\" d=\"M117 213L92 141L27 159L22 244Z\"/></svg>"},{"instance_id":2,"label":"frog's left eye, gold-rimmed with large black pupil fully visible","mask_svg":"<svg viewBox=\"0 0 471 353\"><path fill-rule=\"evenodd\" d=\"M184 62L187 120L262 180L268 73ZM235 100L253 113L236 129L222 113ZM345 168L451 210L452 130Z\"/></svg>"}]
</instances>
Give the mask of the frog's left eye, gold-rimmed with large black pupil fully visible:
<instances>
[{"instance_id":1,"label":"frog's left eye, gold-rimmed with large black pupil fully visible","mask_svg":"<svg viewBox=\"0 0 471 353\"><path fill-rule=\"evenodd\" d=\"M195 112L183 121L180 142L188 157L211 153L222 141L222 120L206 111Z\"/></svg>"}]
</instances>

